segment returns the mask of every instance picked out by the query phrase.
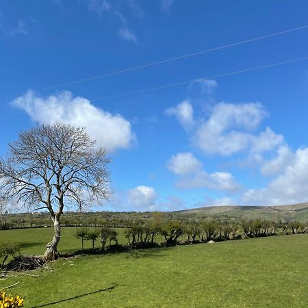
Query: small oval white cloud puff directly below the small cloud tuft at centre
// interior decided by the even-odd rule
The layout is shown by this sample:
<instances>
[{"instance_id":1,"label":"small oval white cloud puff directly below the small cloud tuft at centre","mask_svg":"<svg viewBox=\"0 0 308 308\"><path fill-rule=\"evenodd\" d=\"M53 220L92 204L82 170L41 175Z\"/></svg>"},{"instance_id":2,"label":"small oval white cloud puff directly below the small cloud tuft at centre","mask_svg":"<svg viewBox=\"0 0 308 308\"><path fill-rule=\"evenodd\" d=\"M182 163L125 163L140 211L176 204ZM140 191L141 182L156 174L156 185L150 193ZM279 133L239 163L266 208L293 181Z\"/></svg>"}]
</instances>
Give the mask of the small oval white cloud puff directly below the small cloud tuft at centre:
<instances>
[{"instance_id":1,"label":"small oval white cloud puff directly below the small cloud tuft at centre","mask_svg":"<svg viewBox=\"0 0 308 308\"><path fill-rule=\"evenodd\" d=\"M196 173L202 168L201 162L192 153L178 153L172 155L167 163L168 169L176 175Z\"/></svg>"}]
</instances>

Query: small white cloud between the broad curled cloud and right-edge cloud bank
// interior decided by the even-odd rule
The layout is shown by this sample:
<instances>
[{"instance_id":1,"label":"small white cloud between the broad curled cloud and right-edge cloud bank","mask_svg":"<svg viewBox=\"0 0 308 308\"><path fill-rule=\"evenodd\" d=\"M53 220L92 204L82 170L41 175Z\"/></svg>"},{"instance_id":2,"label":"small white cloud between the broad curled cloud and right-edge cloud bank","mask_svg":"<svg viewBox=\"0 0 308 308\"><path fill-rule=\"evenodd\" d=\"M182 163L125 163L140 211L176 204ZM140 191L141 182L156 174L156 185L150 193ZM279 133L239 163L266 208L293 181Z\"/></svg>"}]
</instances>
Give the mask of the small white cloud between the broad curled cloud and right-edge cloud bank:
<instances>
[{"instance_id":1,"label":"small white cloud between the broad curled cloud and right-edge cloud bank","mask_svg":"<svg viewBox=\"0 0 308 308\"><path fill-rule=\"evenodd\" d=\"M263 175L279 175L285 172L287 166L294 162L294 153L288 146L281 146L277 150L277 157L264 162L261 166L261 173Z\"/></svg>"}]
</instances>

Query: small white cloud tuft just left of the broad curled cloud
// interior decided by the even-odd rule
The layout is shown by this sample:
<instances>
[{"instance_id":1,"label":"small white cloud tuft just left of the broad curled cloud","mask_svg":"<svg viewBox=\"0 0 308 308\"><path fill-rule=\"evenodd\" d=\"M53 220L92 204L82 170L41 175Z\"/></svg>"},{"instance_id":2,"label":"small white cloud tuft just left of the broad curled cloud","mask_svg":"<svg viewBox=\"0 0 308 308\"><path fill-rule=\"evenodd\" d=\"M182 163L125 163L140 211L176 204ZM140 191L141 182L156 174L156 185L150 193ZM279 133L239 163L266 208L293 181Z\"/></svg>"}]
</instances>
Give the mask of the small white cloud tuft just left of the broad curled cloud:
<instances>
[{"instance_id":1,"label":"small white cloud tuft just left of the broad curled cloud","mask_svg":"<svg viewBox=\"0 0 308 308\"><path fill-rule=\"evenodd\" d=\"M165 110L165 113L168 116L175 116L185 129L190 129L194 125L194 110L190 101L187 99L179 103L176 107L168 108Z\"/></svg>"}]
</instances>

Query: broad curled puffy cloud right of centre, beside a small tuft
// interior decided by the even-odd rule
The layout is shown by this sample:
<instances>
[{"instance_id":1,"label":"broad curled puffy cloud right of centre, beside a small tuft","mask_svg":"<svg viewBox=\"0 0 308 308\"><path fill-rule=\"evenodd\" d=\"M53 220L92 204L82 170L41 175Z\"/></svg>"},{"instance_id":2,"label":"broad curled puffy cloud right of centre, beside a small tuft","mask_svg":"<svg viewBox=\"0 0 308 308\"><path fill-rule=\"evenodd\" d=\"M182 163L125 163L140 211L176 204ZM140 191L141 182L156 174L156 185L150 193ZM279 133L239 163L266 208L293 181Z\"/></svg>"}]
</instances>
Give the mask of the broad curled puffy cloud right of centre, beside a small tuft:
<instances>
[{"instance_id":1,"label":"broad curled puffy cloud right of centre, beside a small tuft","mask_svg":"<svg viewBox=\"0 0 308 308\"><path fill-rule=\"evenodd\" d=\"M270 151L283 142L283 136L269 127L259 135L252 132L267 115L260 103L218 103L196 129L194 144L209 154L232 155L248 148L252 153Z\"/></svg>"}]
</instances>

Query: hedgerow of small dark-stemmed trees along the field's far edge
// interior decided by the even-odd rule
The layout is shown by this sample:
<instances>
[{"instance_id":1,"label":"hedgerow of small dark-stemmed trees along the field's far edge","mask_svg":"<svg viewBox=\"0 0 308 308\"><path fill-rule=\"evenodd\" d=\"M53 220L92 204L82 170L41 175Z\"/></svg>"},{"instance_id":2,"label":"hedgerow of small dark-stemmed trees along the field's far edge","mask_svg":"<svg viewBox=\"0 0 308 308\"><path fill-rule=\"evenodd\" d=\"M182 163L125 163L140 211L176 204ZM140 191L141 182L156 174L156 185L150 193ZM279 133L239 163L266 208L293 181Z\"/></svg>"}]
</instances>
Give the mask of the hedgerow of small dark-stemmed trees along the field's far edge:
<instances>
[{"instance_id":1,"label":"hedgerow of small dark-stemmed trees along the field's far edge","mask_svg":"<svg viewBox=\"0 0 308 308\"><path fill-rule=\"evenodd\" d=\"M197 243L238 240L240 238L257 238L278 234L308 233L308 224L302 222L272 222L269 220L219 221L207 219L201 221L166 220L162 215L153 216L151 220L137 220L127 224L124 236L127 248L151 247L161 245L173 246L179 243ZM118 246L118 231L110 227L101 229L77 228L76 237L94 242L100 238L101 248L105 251L106 244Z\"/></svg>"}]
</instances>

